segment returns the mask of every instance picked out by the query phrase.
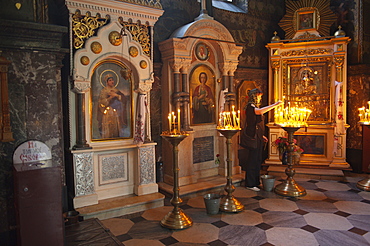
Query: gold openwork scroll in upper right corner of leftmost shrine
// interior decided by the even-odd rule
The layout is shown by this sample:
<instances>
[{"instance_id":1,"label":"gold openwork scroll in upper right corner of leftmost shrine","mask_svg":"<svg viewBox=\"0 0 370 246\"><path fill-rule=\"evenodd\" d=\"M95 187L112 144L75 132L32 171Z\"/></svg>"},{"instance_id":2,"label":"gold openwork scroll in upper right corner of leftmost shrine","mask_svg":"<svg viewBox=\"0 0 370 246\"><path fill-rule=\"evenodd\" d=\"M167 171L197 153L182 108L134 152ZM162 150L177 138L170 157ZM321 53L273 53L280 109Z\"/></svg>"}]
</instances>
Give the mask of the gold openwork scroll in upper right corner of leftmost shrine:
<instances>
[{"instance_id":1,"label":"gold openwork scroll in upper right corner of leftmost shrine","mask_svg":"<svg viewBox=\"0 0 370 246\"><path fill-rule=\"evenodd\" d=\"M138 42L143 49L146 56L151 56L151 46L150 46L150 31L147 25L141 25L138 23L129 23L119 18L119 23L128 30L132 36L132 39Z\"/></svg>"}]
</instances>

